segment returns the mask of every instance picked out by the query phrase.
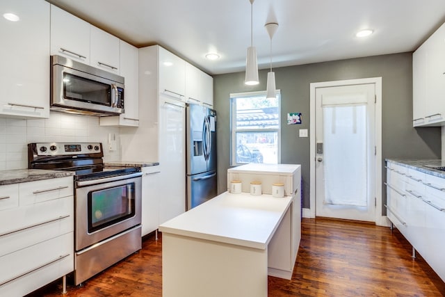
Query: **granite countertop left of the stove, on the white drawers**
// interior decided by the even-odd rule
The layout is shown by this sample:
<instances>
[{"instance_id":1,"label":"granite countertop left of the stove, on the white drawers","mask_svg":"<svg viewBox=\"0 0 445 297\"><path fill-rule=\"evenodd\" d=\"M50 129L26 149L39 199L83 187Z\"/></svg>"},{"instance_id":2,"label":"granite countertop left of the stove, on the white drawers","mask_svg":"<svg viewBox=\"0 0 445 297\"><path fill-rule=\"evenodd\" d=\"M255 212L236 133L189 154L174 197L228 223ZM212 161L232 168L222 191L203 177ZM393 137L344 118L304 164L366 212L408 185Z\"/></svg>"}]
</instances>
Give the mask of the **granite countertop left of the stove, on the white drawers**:
<instances>
[{"instance_id":1,"label":"granite countertop left of the stove, on the white drawers","mask_svg":"<svg viewBox=\"0 0 445 297\"><path fill-rule=\"evenodd\" d=\"M0 170L0 186L6 184L18 184L21 182L33 182L42 179L57 177L69 177L74 171L44 170L44 169L17 169Z\"/></svg>"}]
</instances>

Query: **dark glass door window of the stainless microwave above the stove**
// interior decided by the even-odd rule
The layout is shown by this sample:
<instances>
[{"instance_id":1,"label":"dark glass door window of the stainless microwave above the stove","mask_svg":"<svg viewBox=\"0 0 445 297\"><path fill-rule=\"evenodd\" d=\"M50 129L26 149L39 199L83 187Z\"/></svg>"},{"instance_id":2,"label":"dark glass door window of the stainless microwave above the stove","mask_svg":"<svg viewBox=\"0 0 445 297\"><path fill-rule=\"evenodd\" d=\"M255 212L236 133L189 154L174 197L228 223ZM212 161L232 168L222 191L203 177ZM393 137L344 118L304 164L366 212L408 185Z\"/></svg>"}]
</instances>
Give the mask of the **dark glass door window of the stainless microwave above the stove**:
<instances>
[{"instance_id":1,"label":"dark glass door window of the stainless microwave above the stove","mask_svg":"<svg viewBox=\"0 0 445 297\"><path fill-rule=\"evenodd\" d=\"M111 106L110 85L63 73L63 97L82 102Z\"/></svg>"}]
</instances>

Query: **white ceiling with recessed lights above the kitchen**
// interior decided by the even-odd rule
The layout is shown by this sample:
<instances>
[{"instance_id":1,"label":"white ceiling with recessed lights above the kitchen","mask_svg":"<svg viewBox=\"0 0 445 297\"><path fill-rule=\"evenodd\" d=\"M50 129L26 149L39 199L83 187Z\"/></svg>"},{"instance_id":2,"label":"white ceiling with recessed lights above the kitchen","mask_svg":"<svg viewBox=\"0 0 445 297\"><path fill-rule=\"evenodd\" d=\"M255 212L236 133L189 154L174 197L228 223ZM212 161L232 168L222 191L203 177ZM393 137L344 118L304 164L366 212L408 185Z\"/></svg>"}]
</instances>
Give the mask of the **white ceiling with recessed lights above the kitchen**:
<instances>
[{"instance_id":1,"label":"white ceiling with recessed lights above the kitchen","mask_svg":"<svg viewBox=\"0 0 445 297\"><path fill-rule=\"evenodd\" d=\"M245 69L249 0L47 0L136 47L159 44L208 72ZM445 22L444 0L257 0L253 43L260 69L414 51ZM356 38L360 29L373 29ZM221 58L204 56L216 51Z\"/></svg>"}]
</instances>

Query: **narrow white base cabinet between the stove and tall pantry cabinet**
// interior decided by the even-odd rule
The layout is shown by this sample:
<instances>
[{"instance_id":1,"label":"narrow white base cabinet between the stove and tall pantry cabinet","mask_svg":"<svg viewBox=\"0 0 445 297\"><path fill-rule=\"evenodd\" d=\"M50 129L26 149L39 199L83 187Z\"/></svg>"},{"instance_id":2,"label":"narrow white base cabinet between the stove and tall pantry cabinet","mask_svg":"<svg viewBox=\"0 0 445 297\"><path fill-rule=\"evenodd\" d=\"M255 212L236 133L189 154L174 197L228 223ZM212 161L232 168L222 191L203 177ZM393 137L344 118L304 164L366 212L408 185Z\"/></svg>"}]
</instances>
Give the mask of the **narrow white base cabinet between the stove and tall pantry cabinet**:
<instances>
[{"instance_id":1,"label":"narrow white base cabinet between the stove and tall pantry cabinet","mask_svg":"<svg viewBox=\"0 0 445 297\"><path fill-rule=\"evenodd\" d=\"M142 236L159 227L160 166L142 168Z\"/></svg>"}]
</instances>

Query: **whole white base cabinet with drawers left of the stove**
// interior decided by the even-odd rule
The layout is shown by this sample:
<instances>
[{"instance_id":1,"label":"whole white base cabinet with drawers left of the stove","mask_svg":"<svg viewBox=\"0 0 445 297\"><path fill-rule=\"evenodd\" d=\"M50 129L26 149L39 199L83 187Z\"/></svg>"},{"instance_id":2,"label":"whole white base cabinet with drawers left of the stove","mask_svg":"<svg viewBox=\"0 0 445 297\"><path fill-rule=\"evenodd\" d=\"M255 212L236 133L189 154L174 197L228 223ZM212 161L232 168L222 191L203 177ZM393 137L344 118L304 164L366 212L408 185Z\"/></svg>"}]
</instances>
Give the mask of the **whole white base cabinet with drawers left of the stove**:
<instances>
[{"instance_id":1,"label":"whole white base cabinet with drawers left of the stove","mask_svg":"<svg viewBox=\"0 0 445 297\"><path fill-rule=\"evenodd\" d=\"M0 186L0 193L9 196L0 201L18 202L0 210L0 267L8 267L0 269L0 296L24 296L72 272L72 177Z\"/></svg>"}]
</instances>

